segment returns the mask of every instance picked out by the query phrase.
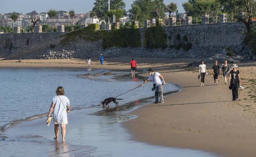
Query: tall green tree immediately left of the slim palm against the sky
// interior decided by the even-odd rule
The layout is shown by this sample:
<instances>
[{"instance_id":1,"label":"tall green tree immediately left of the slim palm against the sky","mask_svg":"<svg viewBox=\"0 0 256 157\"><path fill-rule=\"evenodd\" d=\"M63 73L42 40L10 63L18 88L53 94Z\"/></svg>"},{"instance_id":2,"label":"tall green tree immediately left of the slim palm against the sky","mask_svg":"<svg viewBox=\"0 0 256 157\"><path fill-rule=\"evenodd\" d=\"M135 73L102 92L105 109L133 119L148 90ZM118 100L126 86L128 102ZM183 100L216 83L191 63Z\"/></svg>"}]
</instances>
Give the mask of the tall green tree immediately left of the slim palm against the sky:
<instances>
[{"instance_id":1,"label":"tall green tree immediately left of the slim palm against the sky","mask_svg":"<svg viewBox=\"0 0 256 157\"><path fill-rule=\"evenodd\" d=\"M153 18L165 18L165 3L164 0L154 0L153 1L155 9L152 12Z\"/></svg>"}]
</instances>

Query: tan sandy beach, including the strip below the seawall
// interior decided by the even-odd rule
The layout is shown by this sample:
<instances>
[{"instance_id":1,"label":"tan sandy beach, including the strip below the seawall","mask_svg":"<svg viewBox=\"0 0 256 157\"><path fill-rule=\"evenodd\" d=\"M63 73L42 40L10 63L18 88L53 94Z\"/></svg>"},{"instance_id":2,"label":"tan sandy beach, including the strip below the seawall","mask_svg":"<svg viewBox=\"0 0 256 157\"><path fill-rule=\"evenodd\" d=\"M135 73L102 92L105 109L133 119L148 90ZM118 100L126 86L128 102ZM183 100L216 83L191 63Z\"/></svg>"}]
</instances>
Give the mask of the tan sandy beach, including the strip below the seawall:
<instances>
[{"instance_id":1,"label":"tan sandy beach, including the strip below the seawall","mask_svg":"<svg viewBox=\"0 0 256 157\"><path fill-rule=\"evenodd\" d=\"M130 70L131 57L106 58L96 69ZM165 104L148 104L131 112L137 119L123 123L133 140L153 145L206 150L223 157L255 157L256 146L256 63L238 63L245 90L239 91L239 101L224 78L214 86L212 75L206 76L204 87L199 86L198 68L187 64L200 59L135 58L139 70L149 67L160 72L166 82L182 86L181 92L165 97ZM212 63L206 63L212 64ZM0 60L0 67L67 67L85 68L85 60ZM210 66L208 66L208 70ZM148 74L145 73L145 76ZM145 90L151 90L146 89Z\"/></svg>"}]
</instances>

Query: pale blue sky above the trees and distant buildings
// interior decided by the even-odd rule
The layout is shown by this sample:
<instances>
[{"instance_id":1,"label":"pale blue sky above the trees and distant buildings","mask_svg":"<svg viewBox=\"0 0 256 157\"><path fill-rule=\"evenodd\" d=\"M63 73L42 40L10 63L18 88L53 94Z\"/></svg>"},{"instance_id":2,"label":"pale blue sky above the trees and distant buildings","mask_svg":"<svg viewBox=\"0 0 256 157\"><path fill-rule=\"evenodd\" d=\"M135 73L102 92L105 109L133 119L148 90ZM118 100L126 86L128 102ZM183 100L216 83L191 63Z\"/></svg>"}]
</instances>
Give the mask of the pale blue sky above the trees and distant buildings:
<instances>
[{"instance_id":1,"label":"pale blue sky above the trees and distant buildings","mask_svg":"<svg viewBox=\"0 0 256 157\"><path fill-rule=\"evenodd\" d=\"M37 13L47 12L49 9L55 10L74 10L75 13L86 13L94 7L95 0L0 0L0 13L29 13L37 11ZM124 0L126 3L126 11L130 9L133 0ZM182 3L187 0L164 0L165 4L176 2L178 11L183 13ZM111 4L110 4L111 5Z\"/></svg>"}]
</instances>

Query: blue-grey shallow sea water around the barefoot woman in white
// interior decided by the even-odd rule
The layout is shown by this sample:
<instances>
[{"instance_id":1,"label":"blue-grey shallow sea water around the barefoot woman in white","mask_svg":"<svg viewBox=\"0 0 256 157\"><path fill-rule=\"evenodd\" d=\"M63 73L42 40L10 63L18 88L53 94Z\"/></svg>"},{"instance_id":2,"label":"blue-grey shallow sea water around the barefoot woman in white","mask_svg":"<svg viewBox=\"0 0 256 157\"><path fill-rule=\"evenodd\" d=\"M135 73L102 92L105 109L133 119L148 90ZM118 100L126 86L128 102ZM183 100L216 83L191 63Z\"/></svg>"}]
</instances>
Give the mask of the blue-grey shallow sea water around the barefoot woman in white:
<instances>
[{"instance_id":1,"label":"blue-grey shallow sea water around the barefoot woman in white","mask_svg":"<svg viewBox=\"0 0 256 157\"><path fill-rule=\"evenodd\" d=\"M114 104L110 108L97 106L107 97L135 88L141 84L141 78L132 80L129 74L114 72L118 75L85 79L80 75L88 73L87 70L73 69L0 69L0 73L4 74L0 77L1 86L3 84L0 100L7 106L0 115L4 119L1 125L26 117L34 119L11 123L2 133L1 157L214 157L200 150L152 146L130 140L131 135L121 127L121 122L136 118L129 112L153 101L150 83L119 97L124 99L118 100L119 108ZM34 116L48 112L59 85L64 86L71 107L79 109L68 115L65 144L53 140L53 124L48 128L45 117ZM180 88L168 84L164 90L170 94Z\"/></svg>"}]
</instances>

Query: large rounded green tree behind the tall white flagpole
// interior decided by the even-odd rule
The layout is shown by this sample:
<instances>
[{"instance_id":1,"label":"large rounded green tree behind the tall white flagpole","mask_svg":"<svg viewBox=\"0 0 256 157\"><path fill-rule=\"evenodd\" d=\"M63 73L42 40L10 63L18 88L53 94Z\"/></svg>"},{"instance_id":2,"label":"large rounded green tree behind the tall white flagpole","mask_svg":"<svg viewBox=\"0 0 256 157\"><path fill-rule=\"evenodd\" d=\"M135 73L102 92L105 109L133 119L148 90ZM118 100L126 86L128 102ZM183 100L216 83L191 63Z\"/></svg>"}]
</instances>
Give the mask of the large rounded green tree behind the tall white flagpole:
<instances>
[{"instance_id":1,"label":"large rounded green tree behind the tall white flagpole","mask_svg":"<svg viewBox=\"0 0 256 157\"><path fill-rule=\"evenodd\" d=\"M125 13L125 3L123 0L110 0L110 10L123 10ZM100 20L108 19L108 0L95 0L91 11L91 17L97 16Z\"/></svg>"}]
</instances>

